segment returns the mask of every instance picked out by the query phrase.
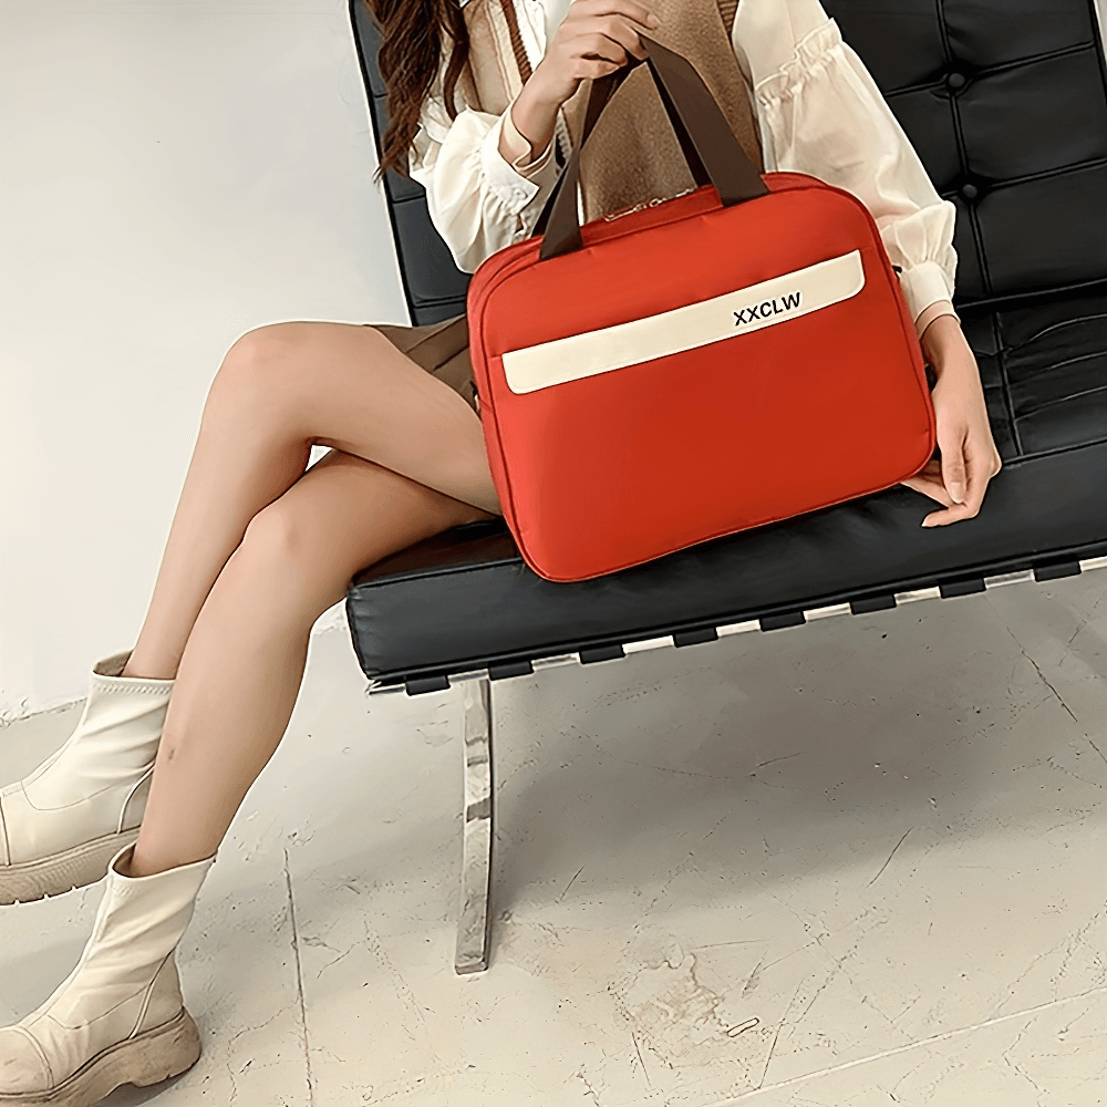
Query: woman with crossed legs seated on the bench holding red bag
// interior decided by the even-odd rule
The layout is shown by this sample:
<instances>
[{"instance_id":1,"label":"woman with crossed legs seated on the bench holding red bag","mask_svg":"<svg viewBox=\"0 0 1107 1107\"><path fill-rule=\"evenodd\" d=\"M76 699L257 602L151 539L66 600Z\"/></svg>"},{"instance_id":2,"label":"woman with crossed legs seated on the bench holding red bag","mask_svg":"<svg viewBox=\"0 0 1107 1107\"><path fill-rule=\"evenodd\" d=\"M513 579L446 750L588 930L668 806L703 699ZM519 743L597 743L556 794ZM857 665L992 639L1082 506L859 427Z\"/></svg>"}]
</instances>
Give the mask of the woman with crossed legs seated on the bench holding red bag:
<instances>
[{"instance_id":1,"label":"woman with crossed legs seated on the bench holding red bag","mask_svg":"<svg viewBox=\"0 0 1107 1107\"><path fill-rule=\"evenodd\" d=\"M664 19L653 10L723 13L734 48L726 64L756 87L768 167L821 169L853 187L898 258L938 374L942 453L941 465L908 483L943 507L925 524L971 518L999 456L949 300L951 209L818 0L743 0L733 27L733 0L715 4L517 0L505 8L518 20L511 41L525 51L525 29L541 60L489 113L452 100L476 6L377 0L392 110L382 169L410 170L427 187L436 227L472 271L530 234L563 162L561 110L582 82L643 58L640 33L661 40ZM528 22L536 10L546 25ZM454 42L448 56L443 31ZM472 60L493 69L488 58ZM439 96L432 85L444 62ZM95 664L73 735L0 792L0 902L107 875L76 968L37 1011L0 1030L0 1105L79 1107L198 1057L174 951L284 733L312 624L364 566L501 514L463 324L464 315L425 328L288 322L248 332L227 353L136 645ZM314 444L331 449L306 472Z\"/></svg>"}]
</instances>

